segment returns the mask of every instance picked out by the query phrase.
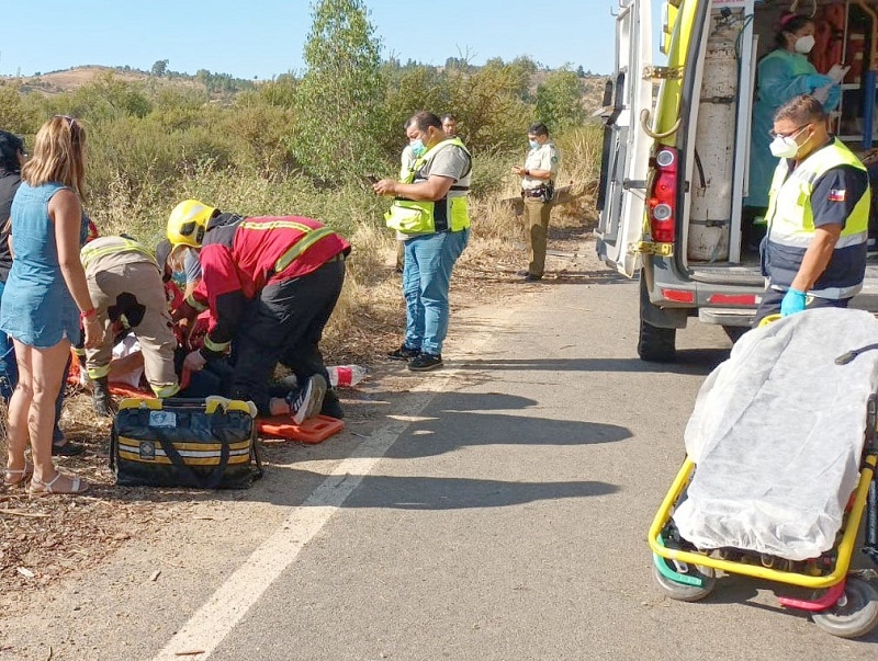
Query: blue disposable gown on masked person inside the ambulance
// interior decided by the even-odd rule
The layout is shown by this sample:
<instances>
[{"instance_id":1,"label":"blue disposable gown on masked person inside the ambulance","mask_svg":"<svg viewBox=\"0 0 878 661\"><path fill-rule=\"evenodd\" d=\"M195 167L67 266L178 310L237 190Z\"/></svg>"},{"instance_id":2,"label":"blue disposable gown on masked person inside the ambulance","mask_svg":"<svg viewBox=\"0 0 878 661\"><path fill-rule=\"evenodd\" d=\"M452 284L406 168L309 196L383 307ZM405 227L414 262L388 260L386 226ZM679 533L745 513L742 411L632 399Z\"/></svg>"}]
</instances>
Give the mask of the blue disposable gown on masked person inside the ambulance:
<instances>
[{"instance_id":1,"label":"blue disposable gown on masked person inside the ambulance","mask_svg":"<svg viewBox=\"0 0 878 661\"><path fill-rule=\"evenodd\" d=\"M799 94L813 92L808 77L817 73L814 66L800 53L783 48L772 50L759 60L757 69L756 103L750 133L750 176L745 206L767 207L768 189L772 184L777 158L772 156L768 133L774 126L775 111ZM826 103L829 112L838 105L838 88L833 87Z\"/></svg>"}]
</instances>

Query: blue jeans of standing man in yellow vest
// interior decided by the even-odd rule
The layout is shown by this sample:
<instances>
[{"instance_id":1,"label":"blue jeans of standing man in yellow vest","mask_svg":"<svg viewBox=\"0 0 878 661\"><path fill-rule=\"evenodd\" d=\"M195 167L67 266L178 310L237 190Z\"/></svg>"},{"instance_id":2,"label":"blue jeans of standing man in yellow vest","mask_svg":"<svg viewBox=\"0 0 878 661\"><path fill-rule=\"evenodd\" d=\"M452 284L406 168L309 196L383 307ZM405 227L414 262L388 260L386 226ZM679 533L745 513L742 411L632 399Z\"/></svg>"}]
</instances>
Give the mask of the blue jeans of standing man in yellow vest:
<instances>
[{"instance_id":1,"label":"blue jeans of standing man in yellow vest","mask_svg":"<svg viewBox=\"0 0 878 661\"><path fill-rule=\"evenodd\" d=\"M466 248L470 230L412 237L405 242L403 294L405 345L423 353L442 353L448 333L448 288L454 262Z\"/></svg>"}]
</instances>

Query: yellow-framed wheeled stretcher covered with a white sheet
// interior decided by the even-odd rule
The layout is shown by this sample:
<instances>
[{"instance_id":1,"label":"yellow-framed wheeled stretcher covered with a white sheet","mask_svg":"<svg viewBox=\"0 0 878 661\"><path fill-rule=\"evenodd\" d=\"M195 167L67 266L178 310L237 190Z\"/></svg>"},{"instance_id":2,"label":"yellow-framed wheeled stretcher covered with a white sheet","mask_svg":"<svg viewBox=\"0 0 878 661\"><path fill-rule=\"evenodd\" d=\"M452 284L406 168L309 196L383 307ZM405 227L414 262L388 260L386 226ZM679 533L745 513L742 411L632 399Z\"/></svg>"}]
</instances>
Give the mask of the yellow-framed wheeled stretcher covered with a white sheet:
<instances>
[{"instance_id":1,"label":"yellow-framed wheeled stretcher covered with a white sheet","mask_svg":"<svg viewBox=\"0 0 878 661\"><path fill-rule=\"evenodd\" d=\"M649 533L653 575L671 597L705 599L724 572L812 590L780 603L835 636L878 624L878 593L851 572L864 522L863 550L878 562L870 349L868 312L810 310L746 333L706 379Z\"/></svg>"}]
</instances>

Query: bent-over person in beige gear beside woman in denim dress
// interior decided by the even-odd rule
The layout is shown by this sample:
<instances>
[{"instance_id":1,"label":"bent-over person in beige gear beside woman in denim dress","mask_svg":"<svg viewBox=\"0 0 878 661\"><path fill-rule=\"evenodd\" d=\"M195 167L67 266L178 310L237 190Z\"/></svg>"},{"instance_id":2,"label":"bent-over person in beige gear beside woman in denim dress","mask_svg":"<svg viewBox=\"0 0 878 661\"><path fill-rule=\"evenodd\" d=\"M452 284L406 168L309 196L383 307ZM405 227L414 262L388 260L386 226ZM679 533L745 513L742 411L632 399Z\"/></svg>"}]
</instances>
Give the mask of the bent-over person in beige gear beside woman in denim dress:
<instances>
[{"instance_id":1,"label":"bent-over person in beige gear beside woman in denim dress","mask_svg":"<svg viewBox=\"0 0 878 661\"><path fill-rule=\"evenodd\" d=\"M156 397L177 395L180 390L173 369L177 338L153 252L126 237L101 237L87 243L80 257L89 295L105 329L103 342L86 350L94 412L112 414L108 383L113 357L112 326L123 316L140 344L146 380Z\"/></svg>"}]
</instances>

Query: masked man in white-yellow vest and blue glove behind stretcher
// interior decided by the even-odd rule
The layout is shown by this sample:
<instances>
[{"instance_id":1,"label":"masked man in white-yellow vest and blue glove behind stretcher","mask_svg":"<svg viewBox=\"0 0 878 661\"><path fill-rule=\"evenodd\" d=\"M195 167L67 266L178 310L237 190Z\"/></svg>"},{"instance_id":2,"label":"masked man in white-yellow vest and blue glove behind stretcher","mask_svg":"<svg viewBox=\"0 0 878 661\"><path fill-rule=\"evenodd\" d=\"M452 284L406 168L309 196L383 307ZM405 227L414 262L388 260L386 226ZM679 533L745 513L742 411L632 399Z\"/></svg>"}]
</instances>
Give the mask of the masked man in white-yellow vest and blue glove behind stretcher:
<instances>
[{"instance_id":1,"label":"masked man in white-yellow vest and blue glove behind stretcher","mask_svg":"<svg viewBox=\"0 0 878 661\"><path fill-rule=\"evenodd\" d=\"M762 246L768 281L754 323L806 308L845 308L863 287L869 220L865 166L828 130L828 115L808 94L774 116L768 233Z\"/></svg>"}]
</instances>

